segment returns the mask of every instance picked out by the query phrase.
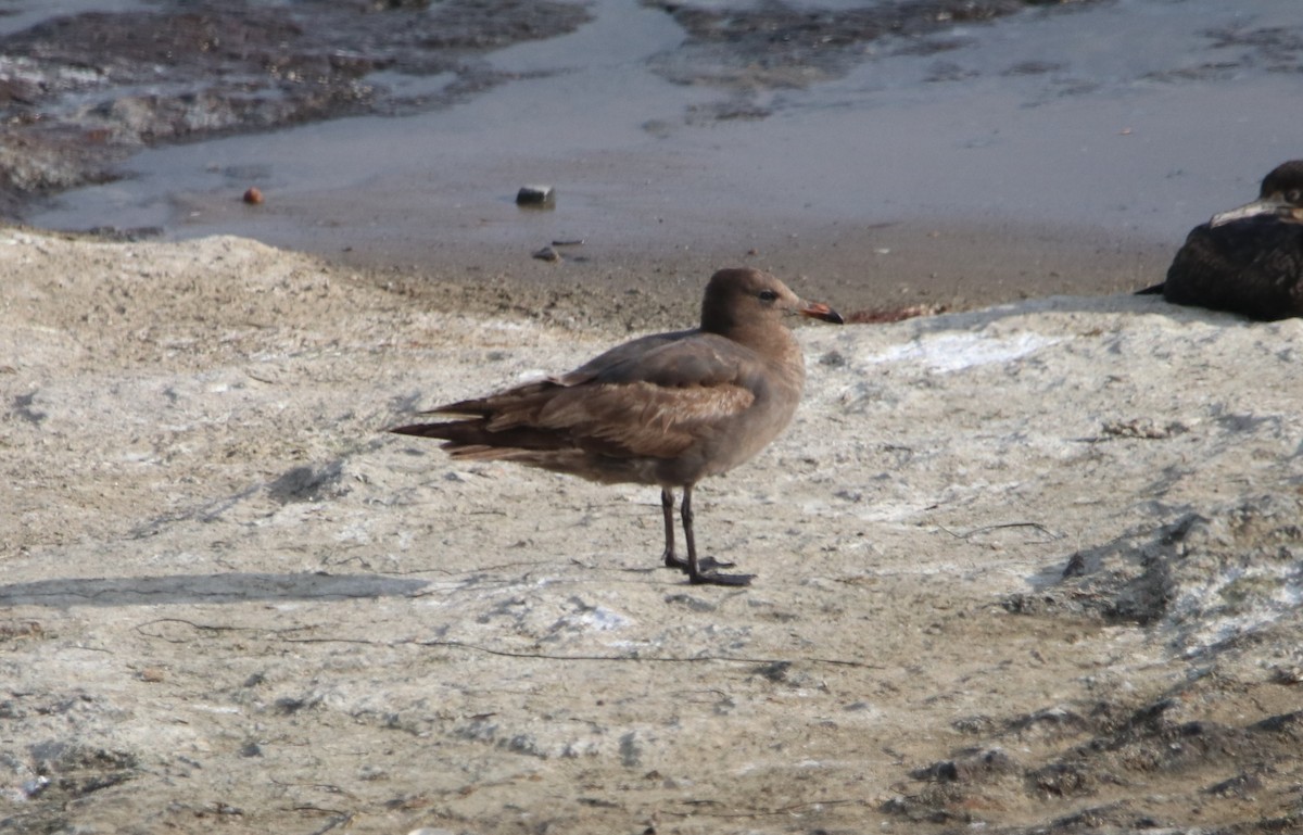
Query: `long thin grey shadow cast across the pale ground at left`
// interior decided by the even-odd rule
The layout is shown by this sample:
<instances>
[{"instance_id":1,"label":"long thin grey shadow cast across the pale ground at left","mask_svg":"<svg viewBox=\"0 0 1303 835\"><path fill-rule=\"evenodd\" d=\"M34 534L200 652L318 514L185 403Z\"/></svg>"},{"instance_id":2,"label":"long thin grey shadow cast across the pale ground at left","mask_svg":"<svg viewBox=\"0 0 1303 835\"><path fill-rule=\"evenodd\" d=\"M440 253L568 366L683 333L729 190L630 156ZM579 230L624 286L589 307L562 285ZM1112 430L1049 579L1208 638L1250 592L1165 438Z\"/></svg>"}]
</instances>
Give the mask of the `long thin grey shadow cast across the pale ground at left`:
<instances>
[{"instance_id":1,"label":"long thin grey shadow cast across the pale ground at left","mask_svg":"<svg viewBox=\"0 0 1303 835\"><path fill-rule=\"evenodd\" d=\"M323 572L64 577L0 585L0 607L344 601L407 597L425 586L423 580Z\"/></svg>"}]
</instances>

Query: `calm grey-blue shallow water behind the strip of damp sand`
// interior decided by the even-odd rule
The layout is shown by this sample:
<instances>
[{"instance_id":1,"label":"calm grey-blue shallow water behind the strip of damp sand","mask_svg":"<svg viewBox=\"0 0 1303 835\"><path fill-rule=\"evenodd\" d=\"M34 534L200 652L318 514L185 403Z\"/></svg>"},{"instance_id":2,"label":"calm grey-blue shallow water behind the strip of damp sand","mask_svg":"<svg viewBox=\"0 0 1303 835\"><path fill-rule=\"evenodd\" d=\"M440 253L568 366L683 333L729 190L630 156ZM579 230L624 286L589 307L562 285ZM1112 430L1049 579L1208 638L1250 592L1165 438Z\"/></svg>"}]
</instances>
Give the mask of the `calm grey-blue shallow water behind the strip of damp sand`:
<instances>
[{"instance_id":1,"label":"calm grey-blue shallow water behind the strip of damp sand","mask_svg":"<svg viewBox=\"0 0 1303 835\"><path fill-rule=\"evenodd\" d=\"M737 83L735 56L685 46L662 10L592 12L571 35L490 53L520 78L460 104L149 150L129 178L29 220L414 263L560 238L739 251L913 219L1179 242L1300 155L1296 0L1036 8L869 42L850 72L804 89ZM666 79L717 66L734 83ZM519 210L525 184L554 185L556 208ZM249 185L266 205L240 202Z\"/></svg>"}]
</instances>

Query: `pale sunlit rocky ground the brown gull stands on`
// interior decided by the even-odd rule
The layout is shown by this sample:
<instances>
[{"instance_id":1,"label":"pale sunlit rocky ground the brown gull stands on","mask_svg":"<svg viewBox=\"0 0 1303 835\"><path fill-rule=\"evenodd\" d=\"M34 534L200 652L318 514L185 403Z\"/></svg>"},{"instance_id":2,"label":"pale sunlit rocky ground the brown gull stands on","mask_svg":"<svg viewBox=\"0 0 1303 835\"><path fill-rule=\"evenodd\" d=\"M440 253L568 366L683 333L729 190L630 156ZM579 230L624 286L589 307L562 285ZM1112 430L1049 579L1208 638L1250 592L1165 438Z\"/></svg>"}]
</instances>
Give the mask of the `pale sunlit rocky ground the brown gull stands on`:
<instances>
[{"instance_id":1,"label":"pale sunlit rocky ground the brown gull stands on","mask_svg":"<svg viewBox=\"0 0 1303 835\"><path fill-rule=\"evenodd\" d=\"M697 495L745 590L657 567L652 490L383 434L689 324L689 266L0 229L0 831L1303 827L1299 322L801 328L794 426Z\"/></svg>"}]
</instances>

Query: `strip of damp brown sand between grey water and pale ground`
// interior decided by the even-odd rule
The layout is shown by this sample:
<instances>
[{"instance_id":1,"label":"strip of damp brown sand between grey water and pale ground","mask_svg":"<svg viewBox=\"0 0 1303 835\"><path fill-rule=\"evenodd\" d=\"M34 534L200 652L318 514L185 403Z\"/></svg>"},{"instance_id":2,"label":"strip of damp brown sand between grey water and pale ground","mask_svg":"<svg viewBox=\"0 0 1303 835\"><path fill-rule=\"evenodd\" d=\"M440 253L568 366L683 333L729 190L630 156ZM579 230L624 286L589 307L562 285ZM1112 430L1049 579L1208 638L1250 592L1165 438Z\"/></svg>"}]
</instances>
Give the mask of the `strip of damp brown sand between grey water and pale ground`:
<instances>
[{"instance_id":1,"label":"strip of damp brown sand between grey water and pale ground","mask_svg":"<svg viewBox=\"0 0 1303 835\"><path fill-rule=\"evenodd\" d=\"M541 245L547 238L541 238ZM692 320L700 287L721 264L752 266L799 283L812 298L833 298L847 315L909 307L964 310L1045 296L1126 293L1162 280L1171 258L1165 244L1119 241L1098 229L972 221L887 223L823 233L744 234L732 246L633 249L558 246L562 262L521 257L498 248L440 248L439 266L422 266L429 251L354 248L330 258L373 280L461 288L459 304L496 306L550 317L607 319L628 331L676 327ZM405 254L405 253L404 253ZM377 262L399 261L388 267ZM509 288L509 292L508 292Z\"/></svg>"}]
</instances>

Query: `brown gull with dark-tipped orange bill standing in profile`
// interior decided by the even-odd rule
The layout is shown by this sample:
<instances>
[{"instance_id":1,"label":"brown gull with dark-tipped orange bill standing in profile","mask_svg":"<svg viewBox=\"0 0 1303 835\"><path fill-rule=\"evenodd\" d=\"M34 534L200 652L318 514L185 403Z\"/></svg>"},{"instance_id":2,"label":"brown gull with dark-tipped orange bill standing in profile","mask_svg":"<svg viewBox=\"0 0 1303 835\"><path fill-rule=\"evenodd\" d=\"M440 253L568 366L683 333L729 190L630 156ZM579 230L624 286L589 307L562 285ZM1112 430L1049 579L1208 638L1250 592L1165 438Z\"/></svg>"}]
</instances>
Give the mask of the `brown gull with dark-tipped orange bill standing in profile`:
<instances>
[{"instance_id":1,"label":"brown gull with dark-tipped orange bill standing in profile","mask_svg":"<svg viewBox=\"0 0 1303 835\"><path fill-rule=\"evenodd\" d=\"M842 323L769 274L721 270L706 285L700 327L635 339L568 374L422 413L461 419L390 431L439 438L455 459L658 486L665 564L694 584L747 585L752 574L718 572L731 563L697 558L692 491L752 459L791 422L805 363L783 322L788 314ZM685 560L675 551L675 488L683 491Z\"/></svg>"}]
</instances>

